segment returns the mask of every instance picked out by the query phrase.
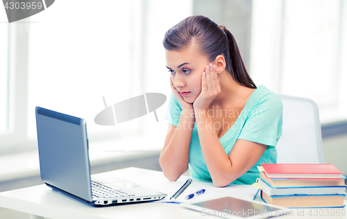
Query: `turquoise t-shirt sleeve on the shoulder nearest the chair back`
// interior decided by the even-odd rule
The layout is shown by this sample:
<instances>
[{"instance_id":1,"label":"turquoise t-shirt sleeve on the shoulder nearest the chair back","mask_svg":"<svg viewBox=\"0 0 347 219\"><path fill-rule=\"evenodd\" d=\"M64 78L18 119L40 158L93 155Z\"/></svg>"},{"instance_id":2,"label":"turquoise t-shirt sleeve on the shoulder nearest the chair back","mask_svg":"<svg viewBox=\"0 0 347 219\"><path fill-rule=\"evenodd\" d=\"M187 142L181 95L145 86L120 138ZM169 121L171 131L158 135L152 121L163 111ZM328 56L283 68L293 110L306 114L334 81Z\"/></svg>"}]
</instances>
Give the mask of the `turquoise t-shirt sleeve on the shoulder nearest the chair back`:
<instances>
[{"instance_id":1,"label":"turquoise t-shirt sleeve on the shoulder nearest the chair back","mask_svg":"<svg viewBox=\"0 0 347 219\"><path fill-rule=\"evenodd\" d=\"M253 105L238 139L262 143L268 148L276 147L282 135L282 100L269 93Z\"/></svg>"}]
</instances>

